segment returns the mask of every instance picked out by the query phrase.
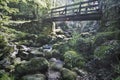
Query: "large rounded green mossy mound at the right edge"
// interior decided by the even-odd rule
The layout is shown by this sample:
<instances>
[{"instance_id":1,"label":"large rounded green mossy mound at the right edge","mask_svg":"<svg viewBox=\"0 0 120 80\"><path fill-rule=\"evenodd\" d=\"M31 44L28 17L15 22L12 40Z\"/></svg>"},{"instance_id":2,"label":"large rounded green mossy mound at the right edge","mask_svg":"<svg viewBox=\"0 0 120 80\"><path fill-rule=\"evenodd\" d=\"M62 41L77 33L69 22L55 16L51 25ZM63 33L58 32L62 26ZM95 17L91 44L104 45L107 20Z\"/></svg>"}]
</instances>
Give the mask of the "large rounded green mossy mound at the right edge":
<instances>
[{"instance_id":1,"label":"large rounded green mossy mound at the right edge","mask_svg":"<svg viewBox=\"0 0 120 80\"><path fill-rule=\"evenodd\" d=\"M120 42L118 40L106 41L101 44L94 50L94 56L100 59L104 59L106 57L114 57L119 56L120 51Z\"/></svg>"}]
</instances>

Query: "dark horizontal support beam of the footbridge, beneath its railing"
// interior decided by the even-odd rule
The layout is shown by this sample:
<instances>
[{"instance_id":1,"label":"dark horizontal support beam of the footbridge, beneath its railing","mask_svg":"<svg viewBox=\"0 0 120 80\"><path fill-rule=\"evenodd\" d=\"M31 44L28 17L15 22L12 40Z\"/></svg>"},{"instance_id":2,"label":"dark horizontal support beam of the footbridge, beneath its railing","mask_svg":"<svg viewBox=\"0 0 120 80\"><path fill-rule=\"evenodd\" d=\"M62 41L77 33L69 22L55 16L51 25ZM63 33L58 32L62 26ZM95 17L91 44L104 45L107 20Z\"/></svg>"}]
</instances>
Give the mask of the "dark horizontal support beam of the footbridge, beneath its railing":
<instances>
[{"instance_id":1,"label":"dark horizontal support beam of the footbridge, beneath its railing","mask_svg":"<svg viewBox=\"0 0 120 80\"><path fill-rule=\"evenodd\" d=\"M101 13L92 13L92 14L78 14L78 15L67 15L67 16L59 16L47 18L45 21L87 21L87 20L100 20L102 14Z\"/></svg>"}]
</instances>

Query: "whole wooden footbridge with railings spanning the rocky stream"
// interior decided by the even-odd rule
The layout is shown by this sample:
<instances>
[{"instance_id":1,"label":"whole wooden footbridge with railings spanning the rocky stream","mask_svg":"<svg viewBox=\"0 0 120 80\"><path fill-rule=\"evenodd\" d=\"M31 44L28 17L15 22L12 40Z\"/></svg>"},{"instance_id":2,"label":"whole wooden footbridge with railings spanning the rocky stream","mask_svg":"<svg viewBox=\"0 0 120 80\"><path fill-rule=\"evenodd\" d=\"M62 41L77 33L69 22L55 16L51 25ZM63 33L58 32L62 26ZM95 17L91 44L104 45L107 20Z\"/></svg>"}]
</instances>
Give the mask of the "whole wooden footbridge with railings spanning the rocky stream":
<instances>
[{"instance_id":1,"label":"whole wooden footbridge with railings spanning the rocky stream","mask_svg":"<svg viewBox=\"0 0 120 80\"><path fill-rule=\"evenodd\" d=\"M45 21L100 20L102 16L99 0L89 0L51 9Z\"/></svg>"}]
</instances>

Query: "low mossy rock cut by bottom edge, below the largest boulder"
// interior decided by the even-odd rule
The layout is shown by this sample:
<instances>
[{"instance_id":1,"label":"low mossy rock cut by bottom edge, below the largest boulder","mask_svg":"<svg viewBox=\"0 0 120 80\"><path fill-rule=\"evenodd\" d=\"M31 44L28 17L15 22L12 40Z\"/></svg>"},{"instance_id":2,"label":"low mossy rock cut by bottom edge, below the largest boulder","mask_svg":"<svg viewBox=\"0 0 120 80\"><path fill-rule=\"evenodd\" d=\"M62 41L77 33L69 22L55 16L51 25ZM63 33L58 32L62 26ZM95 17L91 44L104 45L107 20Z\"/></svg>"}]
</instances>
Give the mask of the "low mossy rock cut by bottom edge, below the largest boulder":
<instances>
[{"instance_id":1,"label":"low mossy rock cut by bottom edge, below the largest boulder","mask_svg":"<svg viewBox=\"0 0 120 80\"><path fill-rule=\"evenodd\" d=\"M46 80L46 77L43 74L33 74L23 76L22 80Z\"/></svg>"}]
</instances>

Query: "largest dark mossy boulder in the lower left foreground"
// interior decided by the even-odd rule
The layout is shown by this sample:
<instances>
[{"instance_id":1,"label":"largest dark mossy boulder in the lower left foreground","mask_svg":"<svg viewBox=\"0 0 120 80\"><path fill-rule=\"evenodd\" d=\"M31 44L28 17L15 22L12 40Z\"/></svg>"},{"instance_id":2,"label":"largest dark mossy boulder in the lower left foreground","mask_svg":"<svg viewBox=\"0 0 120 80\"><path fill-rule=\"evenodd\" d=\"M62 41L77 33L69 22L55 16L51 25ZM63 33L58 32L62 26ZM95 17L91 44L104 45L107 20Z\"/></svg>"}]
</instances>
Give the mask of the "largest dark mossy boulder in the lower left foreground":
<instances>
[{"instance_id":1,"label":"largest dark mossy boulder in the lower left foreground","mask_svg":"<svg viewBox=\"0 0 120 80\"><path fill-rule=\"evenodd\" d=\"M35 72L45 73L48 69L48 61L45 58L33 58L27 63L19 64L15 67L17 76L31 74Z\"/></svg>"}]
</instances>

